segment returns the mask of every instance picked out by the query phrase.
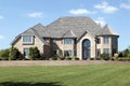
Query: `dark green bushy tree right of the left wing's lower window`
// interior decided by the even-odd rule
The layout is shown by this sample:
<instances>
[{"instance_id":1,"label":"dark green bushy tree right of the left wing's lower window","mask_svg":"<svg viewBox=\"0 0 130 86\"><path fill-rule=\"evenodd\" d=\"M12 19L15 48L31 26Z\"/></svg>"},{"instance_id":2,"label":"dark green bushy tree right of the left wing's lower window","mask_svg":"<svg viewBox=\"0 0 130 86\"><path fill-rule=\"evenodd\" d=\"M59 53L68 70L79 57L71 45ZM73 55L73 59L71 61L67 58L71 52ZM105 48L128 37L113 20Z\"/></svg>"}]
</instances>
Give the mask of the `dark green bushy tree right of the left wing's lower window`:
<instances>
[{"instance_id":1,"label":"dark green bushy tree right of the left wing's lower window","mask_svg":"<svg viewBox=\"0 0 130 86\"><path fill-rule=\"evenodd\" d=\"M37 47L29 48L29 58L30 59L38 59L40 58L40 53Z\"/></svg>"}]
</instances>

